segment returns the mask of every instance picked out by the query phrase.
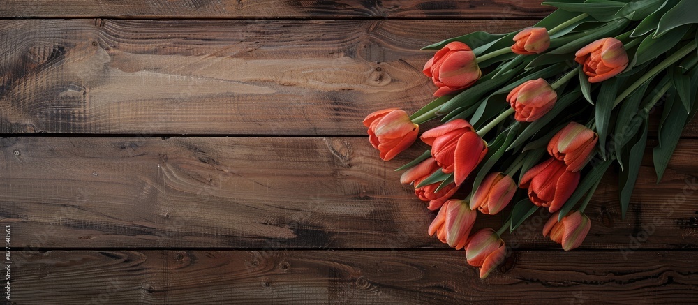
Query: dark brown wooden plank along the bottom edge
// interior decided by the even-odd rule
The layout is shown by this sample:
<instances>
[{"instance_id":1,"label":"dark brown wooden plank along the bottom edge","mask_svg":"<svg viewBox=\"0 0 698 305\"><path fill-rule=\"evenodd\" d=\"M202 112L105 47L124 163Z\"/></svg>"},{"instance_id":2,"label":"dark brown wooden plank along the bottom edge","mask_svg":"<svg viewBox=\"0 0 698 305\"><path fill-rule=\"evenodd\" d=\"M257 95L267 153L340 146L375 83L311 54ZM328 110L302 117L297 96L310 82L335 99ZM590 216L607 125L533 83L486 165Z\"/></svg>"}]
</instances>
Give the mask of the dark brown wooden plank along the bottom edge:
<instances>
[{"instance_id":1,"label":"dark brown wooden plank along the bottom edge","mask_svg":"<svg viewBox=\"0 0 698 305\"><path fill-rule=\"evenodd\" d=\"M484 281L461 251L13 253L17 304L685 304L698 253L515 251ZM600 259L603 258L603 259Z\"/></svg>"}]
</instances>

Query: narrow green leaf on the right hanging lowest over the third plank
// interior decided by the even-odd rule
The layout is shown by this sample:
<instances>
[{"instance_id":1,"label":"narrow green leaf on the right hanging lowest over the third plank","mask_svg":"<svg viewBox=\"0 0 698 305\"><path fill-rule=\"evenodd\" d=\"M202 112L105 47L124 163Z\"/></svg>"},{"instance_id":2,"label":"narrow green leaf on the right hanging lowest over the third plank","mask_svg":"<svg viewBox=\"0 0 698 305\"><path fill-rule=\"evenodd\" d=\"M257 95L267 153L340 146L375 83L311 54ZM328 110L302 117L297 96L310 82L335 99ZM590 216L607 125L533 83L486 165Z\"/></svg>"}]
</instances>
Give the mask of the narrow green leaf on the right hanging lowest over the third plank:
<instances>
[{"instance_id":1,"label":"narrow green leaf on the right hanging lowest over the third plank","mask_svg":"<svg viewBox=\"0 0 698 305\"><path fill-rule=\"evenodd\" d=\"M625 219L625 214L628 212L628 204L630 204L630 196L632 189L635 187L637 175L640 172L642 156L645 154L645 146L647 144L648 122L644 121L644 128L640 137L635 141L635 144L628 153L628 170L623 170L618 174L618 184L621 188L619 199L621 200L621 215Z\"/></svg>"}]
</instances>

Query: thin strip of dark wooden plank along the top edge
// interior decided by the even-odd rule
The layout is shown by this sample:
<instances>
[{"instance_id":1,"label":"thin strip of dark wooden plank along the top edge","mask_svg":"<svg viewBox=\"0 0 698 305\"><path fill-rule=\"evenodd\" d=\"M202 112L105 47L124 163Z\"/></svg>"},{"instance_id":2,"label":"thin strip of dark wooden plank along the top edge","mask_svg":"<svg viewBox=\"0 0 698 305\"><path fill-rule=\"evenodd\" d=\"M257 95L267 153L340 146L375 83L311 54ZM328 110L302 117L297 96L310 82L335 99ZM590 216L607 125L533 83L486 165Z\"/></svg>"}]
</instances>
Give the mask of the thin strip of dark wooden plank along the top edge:
<instances>
[{"instance_id":1,"label":"thin strip of dark wooden plank along the top edge","mask_svg":"<svg viewBox=\"0 0 698 305\"><path fill-rule=\"evenodd\" d=\"M540 19L540 0L3 0L0 17Z\"/></svg>"}]
</instances>

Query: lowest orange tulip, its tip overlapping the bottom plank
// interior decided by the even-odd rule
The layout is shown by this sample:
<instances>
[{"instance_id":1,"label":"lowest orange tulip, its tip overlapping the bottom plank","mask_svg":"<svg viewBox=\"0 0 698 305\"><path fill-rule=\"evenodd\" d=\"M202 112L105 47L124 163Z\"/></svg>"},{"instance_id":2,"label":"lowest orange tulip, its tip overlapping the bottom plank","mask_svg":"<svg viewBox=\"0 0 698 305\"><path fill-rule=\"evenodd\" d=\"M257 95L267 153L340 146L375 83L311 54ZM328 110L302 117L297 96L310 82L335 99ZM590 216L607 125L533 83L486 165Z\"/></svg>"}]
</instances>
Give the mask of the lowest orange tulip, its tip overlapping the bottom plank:
<instances>
[{"instance_id":1,"label":"lowest orange tulip, its tip overlapping the bottom plank","mask_svg":"<svg viewBox=\"0 0 698 305\"><path fill-rule=\"evenodd\" d=\"M480 267L480 278L486 278L497 265L504 262L506 255L504 241L491 228L477 231L468 239L466 259L470 266Z\"/></svg>"}]
</instances>

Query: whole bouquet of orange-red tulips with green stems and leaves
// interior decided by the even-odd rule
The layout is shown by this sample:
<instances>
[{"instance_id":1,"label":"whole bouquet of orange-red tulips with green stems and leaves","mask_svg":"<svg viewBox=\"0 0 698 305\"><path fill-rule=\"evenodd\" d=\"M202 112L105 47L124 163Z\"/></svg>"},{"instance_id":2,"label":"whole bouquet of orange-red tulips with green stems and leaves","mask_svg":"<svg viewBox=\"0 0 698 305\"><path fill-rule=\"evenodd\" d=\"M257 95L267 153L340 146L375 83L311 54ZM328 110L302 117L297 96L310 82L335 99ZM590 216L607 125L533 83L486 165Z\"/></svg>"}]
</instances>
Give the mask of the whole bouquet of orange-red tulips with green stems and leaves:
<instances>
[{"instance_id":1,"label":"whole bouquet of orange-red tulips with green stems and leaves","mask_svg":"<svg viewBox=\"0 0 698 305\"><path fill-rule=\"evenodd\" d=\"M662 178L681 131L698 110L698 1L558 0L533 27L483 31L424 47L436 99L414 114L369 114L369 140L388 161L417 137L431 149L398 168L401 183L438 214L429 235L466 250L485 278L507 253L503 235L537 209L542 234L567 251L591 228L584 214L617 164L622 216L658 111L652 155ZM442 124L419 136L419 126ZM456 191L469 195L454 198ZM510 204L510 202L515 202ZM477 214L505 211L499 230L471 234Z\"/></svg>"}]
</instances>

